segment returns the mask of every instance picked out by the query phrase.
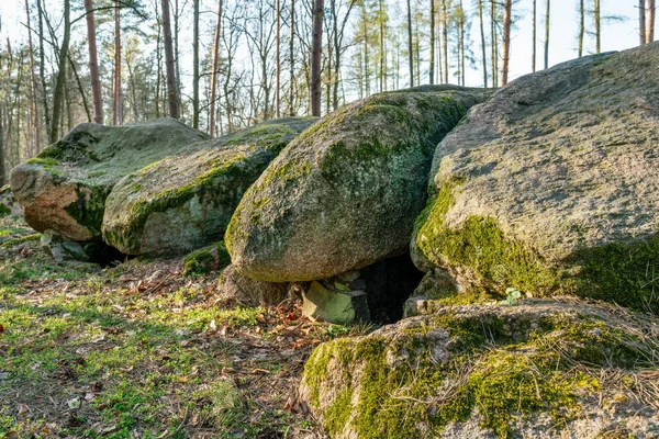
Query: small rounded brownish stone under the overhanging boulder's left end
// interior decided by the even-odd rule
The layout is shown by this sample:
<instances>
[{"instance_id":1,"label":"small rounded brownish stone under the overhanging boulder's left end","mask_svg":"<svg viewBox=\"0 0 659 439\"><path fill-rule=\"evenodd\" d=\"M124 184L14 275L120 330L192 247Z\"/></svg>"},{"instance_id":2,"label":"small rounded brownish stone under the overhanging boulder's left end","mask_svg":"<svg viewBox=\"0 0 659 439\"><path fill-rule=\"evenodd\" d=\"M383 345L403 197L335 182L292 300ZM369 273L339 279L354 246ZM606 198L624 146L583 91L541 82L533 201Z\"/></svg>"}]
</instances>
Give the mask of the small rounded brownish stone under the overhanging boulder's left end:
<instances>
[{"instance_id":1,"label":"small rounded brownish stone under the overhanging boulder's left end","mask_svg":"<svg viewBox=\"0 0 659 439\"><path fill-rule=\"evenodd\" d=\"M228 266L220 274L217 290L225 297L256 305L276 305L286 299L288 283L266 282L247 278L236 267Z\"/></svg>"}]
</instances>

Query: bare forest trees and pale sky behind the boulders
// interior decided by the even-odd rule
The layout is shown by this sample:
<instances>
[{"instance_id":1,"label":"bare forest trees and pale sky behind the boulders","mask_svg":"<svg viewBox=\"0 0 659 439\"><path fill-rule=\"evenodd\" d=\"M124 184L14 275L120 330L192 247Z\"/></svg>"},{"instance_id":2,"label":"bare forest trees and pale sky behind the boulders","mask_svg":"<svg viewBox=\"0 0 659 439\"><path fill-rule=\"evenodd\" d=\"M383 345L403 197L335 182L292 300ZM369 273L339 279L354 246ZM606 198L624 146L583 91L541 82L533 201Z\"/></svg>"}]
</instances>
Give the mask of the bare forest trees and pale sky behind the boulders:
<instances>
[{"instance_id":1,"label":"bare forest trees and pale sky behind the boulders","mask_svg":"<svg viewBox=\"0 0 659 439\"><path fill-rule=\"evenodd\" d=\"M24 2L26 38L0 43L0 185L82 122L170 115L219 136L376 92L465 85L468 68L505 85L515 21L533 14L535 71L548 67L554 13L567 15L550 0L12 1ZM603 23L622 20L603 1L574 0L567 15L579 56L584 42L600 53ZM629 26L652 42L655 0L637 9Z\"/></svg>"}]
</instances>

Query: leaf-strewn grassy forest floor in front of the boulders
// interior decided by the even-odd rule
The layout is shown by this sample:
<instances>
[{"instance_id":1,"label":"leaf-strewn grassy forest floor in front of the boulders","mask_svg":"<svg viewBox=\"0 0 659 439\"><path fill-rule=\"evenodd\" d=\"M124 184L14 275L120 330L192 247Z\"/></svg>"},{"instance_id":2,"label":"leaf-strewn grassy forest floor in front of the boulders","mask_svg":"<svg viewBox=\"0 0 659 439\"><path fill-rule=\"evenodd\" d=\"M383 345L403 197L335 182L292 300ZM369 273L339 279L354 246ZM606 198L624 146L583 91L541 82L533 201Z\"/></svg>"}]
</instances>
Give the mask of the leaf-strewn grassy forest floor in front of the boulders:
<instances>
[{"instance_id":1,"label":"leaf-strewn grassy forest floor in front of the boulders","mask_svg":"<svg viewBox=\"0 0 659 439\"><path fill-rule=\"evenodd\" d=\"M0 218L0 438L324 438L297 387L317 344L291 299L244 307L181 260L54 262Z\"/></svg>"}]
</instances>

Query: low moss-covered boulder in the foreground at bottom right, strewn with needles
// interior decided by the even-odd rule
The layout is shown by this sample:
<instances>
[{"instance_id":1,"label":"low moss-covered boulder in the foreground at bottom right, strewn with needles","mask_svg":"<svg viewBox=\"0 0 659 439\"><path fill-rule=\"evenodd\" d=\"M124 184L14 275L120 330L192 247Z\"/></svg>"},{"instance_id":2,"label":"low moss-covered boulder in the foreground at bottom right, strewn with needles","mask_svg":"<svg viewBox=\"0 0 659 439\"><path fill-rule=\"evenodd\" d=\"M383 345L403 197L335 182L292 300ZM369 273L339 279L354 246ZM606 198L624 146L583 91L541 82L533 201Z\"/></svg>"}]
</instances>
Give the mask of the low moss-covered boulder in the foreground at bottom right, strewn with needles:
<instances>
[{"instance_id":1,"label":"low moss-covered boulder in the foreground at bottom right, strewn with needles","mask_svg":"<svg viewBox=\"0 0 659 439\"><path fill-rule=\"evenodd\" d=\"M438 307L321 345L300 393L333 439L656 437L658 325L574 300Z\"/></svg>"}]
</instances>

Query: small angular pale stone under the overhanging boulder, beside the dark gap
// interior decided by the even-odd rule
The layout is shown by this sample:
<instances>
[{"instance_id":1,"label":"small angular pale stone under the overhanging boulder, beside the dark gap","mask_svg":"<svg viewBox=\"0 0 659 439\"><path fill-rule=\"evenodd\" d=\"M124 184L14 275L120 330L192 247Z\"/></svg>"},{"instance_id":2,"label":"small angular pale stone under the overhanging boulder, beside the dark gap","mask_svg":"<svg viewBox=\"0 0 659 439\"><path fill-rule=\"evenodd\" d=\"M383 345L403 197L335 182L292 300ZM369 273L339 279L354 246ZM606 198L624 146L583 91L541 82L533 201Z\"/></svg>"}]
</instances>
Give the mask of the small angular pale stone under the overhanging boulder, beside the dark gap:
<instances>
[{"instance_id":1,"label":"small angular pale stone under the overhanging boulder, beside the dark gap","mask_svg":"<svg viewBox=\"0 0 659 439\"><path fill-rule=\"evenodd\" d=\"M302 294L302 315L323 322L350 325L370 322L366 291L327 288L313 281Z\"/></svg>"}]
</instances>

